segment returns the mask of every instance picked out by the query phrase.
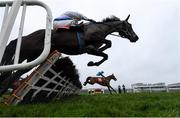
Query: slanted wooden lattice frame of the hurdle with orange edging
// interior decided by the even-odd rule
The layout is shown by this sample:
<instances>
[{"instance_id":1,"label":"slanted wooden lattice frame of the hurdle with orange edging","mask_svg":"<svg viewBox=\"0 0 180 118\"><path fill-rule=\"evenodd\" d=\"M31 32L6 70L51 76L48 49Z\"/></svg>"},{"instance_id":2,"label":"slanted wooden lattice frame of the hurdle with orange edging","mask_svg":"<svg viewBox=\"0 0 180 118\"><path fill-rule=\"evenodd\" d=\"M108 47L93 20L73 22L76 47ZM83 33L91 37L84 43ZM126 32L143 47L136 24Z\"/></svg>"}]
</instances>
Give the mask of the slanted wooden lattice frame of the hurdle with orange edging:
<instances>
[{"instance_id":1,"label":"slanted wooden lattice frame of the hurdle with orange edging","mask_svg":"<svg viewBox=\"0 0 180 118\"><path fill-rule=\"evenodd\" d=\"M61 53L58 51L50 54L46 61L35 69L25 81L3 101L4 104L17 105L47 102L52 99L60 100L64 96L79 94L80 88L71 83L69 79L65 79L66 77L61 76L62 71L55 72L51 68L61 57ZM49 72L53 74L53 77L47 76Z\"/></svg>"}]
</instances>

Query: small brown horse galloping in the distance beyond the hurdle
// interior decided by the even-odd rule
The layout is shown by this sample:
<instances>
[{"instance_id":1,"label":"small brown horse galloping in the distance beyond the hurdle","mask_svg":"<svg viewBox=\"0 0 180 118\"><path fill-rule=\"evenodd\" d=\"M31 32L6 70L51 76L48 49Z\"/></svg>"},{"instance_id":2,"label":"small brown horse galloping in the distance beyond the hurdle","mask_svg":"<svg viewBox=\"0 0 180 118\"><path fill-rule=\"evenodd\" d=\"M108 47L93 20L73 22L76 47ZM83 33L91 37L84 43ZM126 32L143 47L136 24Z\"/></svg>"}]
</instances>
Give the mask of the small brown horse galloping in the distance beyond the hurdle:
<instances>
[{"instance_id":1,"label":"small brown horse galloping in the distance beyond the hurdle","mask_svg":"<svg viewBox=\"0 0 180 118\"><path fill-rule=\"evenodd\" d=\"M102 85L102 86L106 86L110 92L110 94L112 94L111 89L117 93L113 87L110 85L110 81L111 79L113 79L114 81L116 81L116 77L114 76L114 74L109 75L107 77L87 77L86 81L84 82L84 86L86 86L87 84L91 84L94 85L95 83Z\"/></svg>"}]
</instances>

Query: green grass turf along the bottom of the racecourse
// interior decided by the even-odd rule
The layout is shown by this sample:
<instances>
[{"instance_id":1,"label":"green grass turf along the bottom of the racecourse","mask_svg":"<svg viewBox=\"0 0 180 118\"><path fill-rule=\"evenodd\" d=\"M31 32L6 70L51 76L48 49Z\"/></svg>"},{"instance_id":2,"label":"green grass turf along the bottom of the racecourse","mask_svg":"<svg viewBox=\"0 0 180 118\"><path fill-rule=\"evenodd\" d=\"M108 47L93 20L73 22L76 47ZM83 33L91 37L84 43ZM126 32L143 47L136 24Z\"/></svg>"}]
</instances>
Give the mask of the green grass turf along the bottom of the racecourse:
<instances>
[{"instance_id":1,"label":"green grass turf along the bottom of the racecourse","mask_svg":"<svg viewBox=\"0 0 180 118\"><path fill-rule=\"evenodd\" d=\"M180 117L180 93L79 95L46 104L1 105L3 116Z\"/></svg>"}]
</instances>

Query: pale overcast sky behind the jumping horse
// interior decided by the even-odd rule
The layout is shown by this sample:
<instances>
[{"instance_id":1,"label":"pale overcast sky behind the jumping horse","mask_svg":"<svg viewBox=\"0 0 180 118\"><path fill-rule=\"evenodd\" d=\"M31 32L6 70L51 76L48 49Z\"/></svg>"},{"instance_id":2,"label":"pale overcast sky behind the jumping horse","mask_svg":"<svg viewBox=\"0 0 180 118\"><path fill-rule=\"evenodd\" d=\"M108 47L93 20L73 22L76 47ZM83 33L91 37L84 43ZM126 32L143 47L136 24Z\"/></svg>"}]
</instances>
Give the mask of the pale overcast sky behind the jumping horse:
<instances>
[{"instance_id":1,"label":"pale overcast sky behind the jumping horse","mask_svg":"<svg viewBox=\"0 0 180 118\"><path fill-rule=\"evenodd\" d=\"M129 14L129 22L139 40L129 40L107 36L112 47L107 49L109 59L98 67L88 67L89 61L99 61L92 55L70 56L83 83L88 76L96 76L104 71L118 79L111 81L117 88L124 84L127 88L134 83L180 83L180 1L179 0L42 0L52 10L53 18L66 11L77 11L88 18L101 21L111 15L124 20ZM3 17L0 8L0 23ZM23 35L45 28L46 12L40 7L28 7ZM19 17L10 39L17 37ZM1 26L1 24L0 24ZM67 56L67 55L64 55ZM104 88L87 85L87 88Z\"/></svg>"}]
</instances>

